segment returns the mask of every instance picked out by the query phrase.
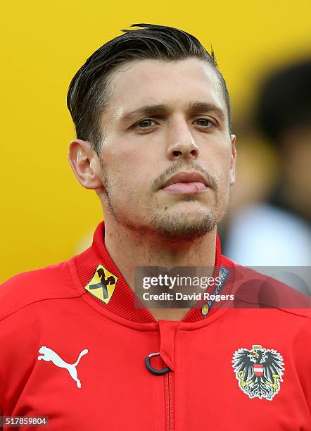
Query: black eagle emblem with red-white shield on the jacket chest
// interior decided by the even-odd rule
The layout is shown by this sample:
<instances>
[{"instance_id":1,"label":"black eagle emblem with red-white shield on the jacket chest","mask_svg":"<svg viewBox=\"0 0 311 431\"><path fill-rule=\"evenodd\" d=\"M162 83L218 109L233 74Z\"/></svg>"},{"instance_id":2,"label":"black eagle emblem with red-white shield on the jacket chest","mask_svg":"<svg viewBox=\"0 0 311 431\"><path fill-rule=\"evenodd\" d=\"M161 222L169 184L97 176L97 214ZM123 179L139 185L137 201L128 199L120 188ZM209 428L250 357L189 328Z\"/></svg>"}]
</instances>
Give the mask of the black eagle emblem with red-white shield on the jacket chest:
<instances>
[{"instance_id":1,"label":"black eagle emblem with red-white shield on the jacket chest","mask_svg":"<svg viewBox=\"0 0 311 431\"><path fill-rule=\"evenodd\" d=\"M283 357L274 349L253 345L234 352L233 368L240 389L250 398L258 396L271 401L283 382Z\"/></svg>"}]
</instances>

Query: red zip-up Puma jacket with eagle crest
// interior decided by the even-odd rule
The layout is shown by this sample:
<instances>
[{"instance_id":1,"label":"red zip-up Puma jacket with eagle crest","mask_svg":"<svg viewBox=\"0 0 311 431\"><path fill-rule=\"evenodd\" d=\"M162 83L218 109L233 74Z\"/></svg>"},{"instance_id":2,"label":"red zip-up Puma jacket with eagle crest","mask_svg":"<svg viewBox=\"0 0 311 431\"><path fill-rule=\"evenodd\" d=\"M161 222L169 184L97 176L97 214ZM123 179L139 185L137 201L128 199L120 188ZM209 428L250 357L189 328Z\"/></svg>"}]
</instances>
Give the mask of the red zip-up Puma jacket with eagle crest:
<instances>
[{"instance_id":1,"label":"red zip-up Puma jacket with eagle crest","mask_svg":"<svg viewBox=\"0 0 311 431\"><path fill-rule=\"evenodd\" d=\"M217 239L220 266L227 294L241 267ZM107 304L89 289L99 268L115 280ZM156 321L134 307L103 223L84 253L4 283L0 304L2 416L48 416L61 431L311 430L310 309L215 303ZM163 375L146 366L156 352Z\"/></svg>"}]
</instances>

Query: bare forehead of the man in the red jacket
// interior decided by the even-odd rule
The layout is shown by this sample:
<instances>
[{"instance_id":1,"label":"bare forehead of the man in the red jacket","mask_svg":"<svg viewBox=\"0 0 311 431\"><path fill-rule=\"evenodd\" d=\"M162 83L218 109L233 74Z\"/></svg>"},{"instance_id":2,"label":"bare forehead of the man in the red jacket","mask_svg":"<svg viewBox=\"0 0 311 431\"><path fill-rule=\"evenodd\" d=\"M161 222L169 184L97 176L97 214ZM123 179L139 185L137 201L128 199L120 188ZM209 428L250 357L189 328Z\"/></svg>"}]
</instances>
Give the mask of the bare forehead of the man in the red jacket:
<instances>
[{"instance_id":1,"label":"bare forehead of the man in the red jacket","mask_svg":"<svg viewBox=\"0 0 311 431\"><path fill-rule=\"evenodd\" d=\"M196 101L227 107L219 77L206 61L139 60L125 63L110 77L108 111L115 119L144 105L164 104L182 109Z\"/></svg>"}]
</instances>

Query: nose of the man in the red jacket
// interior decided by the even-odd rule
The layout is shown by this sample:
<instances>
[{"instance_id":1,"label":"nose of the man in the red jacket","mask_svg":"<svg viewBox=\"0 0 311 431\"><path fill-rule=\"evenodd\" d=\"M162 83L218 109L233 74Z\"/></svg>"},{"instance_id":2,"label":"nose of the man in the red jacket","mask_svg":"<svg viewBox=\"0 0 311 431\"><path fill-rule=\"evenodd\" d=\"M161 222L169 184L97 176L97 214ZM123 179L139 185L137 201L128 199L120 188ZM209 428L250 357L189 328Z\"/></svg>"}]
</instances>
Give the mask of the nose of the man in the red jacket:
<instances>
[{"instance_id":1,"label":"nose of the man in the red jacket","mask_svg":"<svg viewBox=\"0 0 311 431\"><path fill-rule=\"evenodd\" d=\"M172 121L167 131L167 142L167 158L171 161L198 158L200 151L186 120L179 118Z\"/></svg>"}]
</instances>

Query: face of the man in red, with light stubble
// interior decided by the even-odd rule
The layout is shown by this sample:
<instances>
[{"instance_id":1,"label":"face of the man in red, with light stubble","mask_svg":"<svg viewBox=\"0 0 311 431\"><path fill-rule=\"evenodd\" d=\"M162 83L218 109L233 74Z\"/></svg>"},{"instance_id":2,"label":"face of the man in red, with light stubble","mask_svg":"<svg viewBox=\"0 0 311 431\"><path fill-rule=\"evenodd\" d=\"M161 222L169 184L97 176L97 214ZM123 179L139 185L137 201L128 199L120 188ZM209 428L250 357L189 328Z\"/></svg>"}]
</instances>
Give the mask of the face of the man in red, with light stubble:
<instances>
[{"instance_id":1,"label":"face of the man in red, with light stubble","mask_svg":"<svg viewBox=\"0 0 311 431\"><path fill-rule=\"evenodd\" d=\"M108 210L117 223L169 240L215 228L229 203L235 149L208 63L122 65L111 77L101 126L105 217Z\"/></svg>"}]
</instances>

